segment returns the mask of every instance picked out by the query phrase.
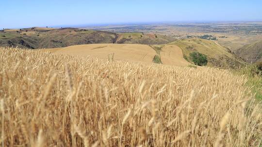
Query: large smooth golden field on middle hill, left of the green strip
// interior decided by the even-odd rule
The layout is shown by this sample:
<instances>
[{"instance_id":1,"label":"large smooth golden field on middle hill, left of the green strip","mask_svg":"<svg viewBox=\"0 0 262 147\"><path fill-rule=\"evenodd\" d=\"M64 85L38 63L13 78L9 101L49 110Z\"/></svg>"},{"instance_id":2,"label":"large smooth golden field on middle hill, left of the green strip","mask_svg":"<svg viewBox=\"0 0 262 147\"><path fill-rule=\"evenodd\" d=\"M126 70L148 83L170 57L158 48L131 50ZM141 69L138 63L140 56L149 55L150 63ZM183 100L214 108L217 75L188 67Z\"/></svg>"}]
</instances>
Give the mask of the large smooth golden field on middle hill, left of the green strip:
<instances>
[{"instance_id":1,"label":"large smooth golden field on middle hill, left of the green strip","mask_svg":"<svg viewBox=\"0 0 262 147\"><path fill-rule=\"evenodd\" d=\"M64 54L79 57L107 59L108 54L115 53L114 59L131 60L152 63L156 52L143 44L83 44L63 48L45 49L54 54Z\"/></svg>"}]
</instances>

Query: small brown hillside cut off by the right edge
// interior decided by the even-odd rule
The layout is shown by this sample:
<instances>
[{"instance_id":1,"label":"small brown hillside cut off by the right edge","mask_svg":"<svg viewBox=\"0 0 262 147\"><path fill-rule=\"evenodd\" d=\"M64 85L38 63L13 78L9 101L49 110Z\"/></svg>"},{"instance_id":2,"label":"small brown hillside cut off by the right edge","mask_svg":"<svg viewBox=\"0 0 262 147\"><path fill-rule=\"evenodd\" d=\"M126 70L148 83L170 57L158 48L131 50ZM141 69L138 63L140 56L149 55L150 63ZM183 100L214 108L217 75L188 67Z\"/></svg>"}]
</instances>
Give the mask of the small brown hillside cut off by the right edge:
<instances>
[{"instance_id":1,"label":"small brown hillside cut off by the right edge","mask_svg":"<svg viewBox=\"0 0 262 147\"><path fill-rule=\"evenodd\" d=\"M262 41L245 45L236 54L250 63L262 61Z\"/></svg>"}]
</instances>

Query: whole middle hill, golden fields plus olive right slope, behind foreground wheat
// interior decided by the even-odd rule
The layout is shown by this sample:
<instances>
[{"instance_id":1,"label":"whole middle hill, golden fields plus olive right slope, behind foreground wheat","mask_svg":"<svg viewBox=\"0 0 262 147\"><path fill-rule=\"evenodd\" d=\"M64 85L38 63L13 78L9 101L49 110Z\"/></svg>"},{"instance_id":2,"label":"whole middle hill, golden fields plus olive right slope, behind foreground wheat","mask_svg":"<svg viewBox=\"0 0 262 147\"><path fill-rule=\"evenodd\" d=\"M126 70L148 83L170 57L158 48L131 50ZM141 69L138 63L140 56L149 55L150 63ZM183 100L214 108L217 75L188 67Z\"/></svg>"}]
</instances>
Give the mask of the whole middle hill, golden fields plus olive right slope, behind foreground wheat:
<instances>
[{"instance_id":1,"label":"whole middle hill, golden fields plus olive right slope, behind foreground wheat","mask_svg":"<svg viewBox=\"0 0 262 147\"><path fill-rule=\"evenodd\" d=\"M208 66L238 68L245 61L232 54L227 48L209 40L186 39L170 44L85 44L63 48L46 49L55 54L66 54L100 59L131 60L165 65L188 66L194 64L190 53L205 54Z\"/></svg>"}]
</instances>

